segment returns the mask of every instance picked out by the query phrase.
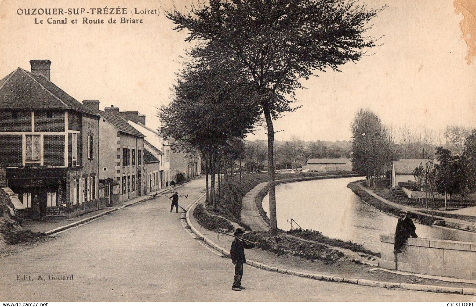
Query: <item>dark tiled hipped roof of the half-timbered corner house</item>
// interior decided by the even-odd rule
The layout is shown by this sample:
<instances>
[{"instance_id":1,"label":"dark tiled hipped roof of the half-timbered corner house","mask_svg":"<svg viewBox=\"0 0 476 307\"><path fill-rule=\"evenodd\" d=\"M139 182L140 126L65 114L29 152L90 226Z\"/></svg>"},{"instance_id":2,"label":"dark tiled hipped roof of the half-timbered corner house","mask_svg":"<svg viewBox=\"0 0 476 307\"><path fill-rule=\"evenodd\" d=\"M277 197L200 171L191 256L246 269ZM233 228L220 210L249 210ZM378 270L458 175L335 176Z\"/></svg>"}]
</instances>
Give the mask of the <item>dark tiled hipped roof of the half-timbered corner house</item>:
<instances>
[{"instance_id":1,"label":"dark tiled hipped roof of the half-timbered corner house","mask_svg":"<svg viewBox=\"0 0 476 307\"><path fill-rule=\"evenodd\" d=\"M20 67L0 80L0 108L74 110L97 116L50 80Z\"/></svg>"}]
</instances>

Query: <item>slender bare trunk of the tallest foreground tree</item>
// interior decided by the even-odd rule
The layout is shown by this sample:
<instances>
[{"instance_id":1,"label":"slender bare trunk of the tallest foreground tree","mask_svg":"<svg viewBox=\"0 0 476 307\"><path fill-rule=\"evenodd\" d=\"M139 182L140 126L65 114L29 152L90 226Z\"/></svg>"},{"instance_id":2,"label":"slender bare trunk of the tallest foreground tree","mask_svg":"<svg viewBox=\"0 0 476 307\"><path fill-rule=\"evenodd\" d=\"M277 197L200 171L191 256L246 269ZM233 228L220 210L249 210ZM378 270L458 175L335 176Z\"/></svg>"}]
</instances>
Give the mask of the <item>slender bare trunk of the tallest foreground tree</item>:
<instances>
[{"instance_id":1,"label":"slender bare trunk of the tallest foreground tree","mask_svg":"<svg viewBox=\"0 0 476 307\"><path fill-rule=\"evenodd\" d=\"M268 128L268 193L269 193L269 234L278 235L278 221L276 220L276 191L274 169L274 127L271 113L267 105L263 105L263 113Z\"/></svg>"}]
</instances>

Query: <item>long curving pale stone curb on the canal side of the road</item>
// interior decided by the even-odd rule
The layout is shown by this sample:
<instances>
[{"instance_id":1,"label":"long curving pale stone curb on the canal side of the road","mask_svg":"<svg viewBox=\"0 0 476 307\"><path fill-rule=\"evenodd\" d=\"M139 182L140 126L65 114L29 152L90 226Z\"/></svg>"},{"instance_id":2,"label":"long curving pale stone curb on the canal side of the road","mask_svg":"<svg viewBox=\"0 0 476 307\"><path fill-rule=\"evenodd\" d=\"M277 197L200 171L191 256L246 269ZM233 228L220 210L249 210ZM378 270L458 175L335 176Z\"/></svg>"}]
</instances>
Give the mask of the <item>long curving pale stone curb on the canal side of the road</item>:
<instances>
[{"instance_id":1,"label":"long curving pale stone curb on the canal side of the road","mask_svg":"<svg viewBox=\"0 0 476 307\"><path fill-rule=\"evenodd\" d=\"M206 238L200 231L198 231L191 223L189 218L189 213L195 209L198 201L202 199L205 195L203 193L200 197L194 201L188 208L186 213L186 222L188 227L192 230L193 233L199 238L201 238L205 243L207 243L213 249L218 250L222 254L229 256L230 253L228 250L220 247L218 244ZM321 275L321 274L314 274L314 273L304 273L294 270L288 270L283 268L276 268L258 261L247 259L246 263L250 266L253 266L258 269L264 269L272 272L278 272L281 274L288 274L288 275L295 275L301 278L309 278L309 279L316 279L316 280L325 280L325 281L333 281L333 282L342 282L347 284L356 284L361 286L368 286L368 287L377 287L377 288L390 288L390 287L400 287L407 290L414 290L414 291L423 291L423 292L436 292L436 293L453 293L453 294L463 294L463 295L476 295L476 288L454 288L454 287L440 287L440 286L428 286L428 285L416 285L416 284L407 284L407 283L395 283L395 282L387 282L387 281L379 281L379 280L369 280L364 278L345 278L339 276L328 276L328 275Z\"/></svg>"}]
</instances>

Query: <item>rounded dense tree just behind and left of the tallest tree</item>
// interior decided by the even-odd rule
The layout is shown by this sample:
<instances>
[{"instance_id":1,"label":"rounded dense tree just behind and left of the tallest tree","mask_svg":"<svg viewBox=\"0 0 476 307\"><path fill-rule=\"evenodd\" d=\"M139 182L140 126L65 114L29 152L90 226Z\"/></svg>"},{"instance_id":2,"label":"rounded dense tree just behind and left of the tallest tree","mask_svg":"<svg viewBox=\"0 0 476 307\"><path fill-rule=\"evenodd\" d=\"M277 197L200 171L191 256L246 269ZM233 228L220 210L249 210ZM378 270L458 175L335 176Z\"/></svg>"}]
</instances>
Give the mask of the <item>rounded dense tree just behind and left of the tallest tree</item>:
<instances>
[{"instance_id":1,"label":"rounded dense tree just behind and left of the tallest tree","mask_svg":"<svg viewBox=\"0 0 476 307\"><path fill-rule=\"evenodd\" d=\"M249 103L252 99L246 87L233 77L228 67L190 64L174 86L175 96L169 106L163 106L158 114L165 135L174 138L178 146L199 151L204 158L214 208L215 173L222 149L231 139L251 132L259 118L259 109Z\"/></svg>"}]
</instances>

